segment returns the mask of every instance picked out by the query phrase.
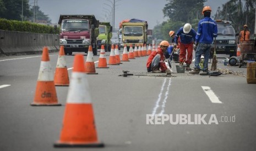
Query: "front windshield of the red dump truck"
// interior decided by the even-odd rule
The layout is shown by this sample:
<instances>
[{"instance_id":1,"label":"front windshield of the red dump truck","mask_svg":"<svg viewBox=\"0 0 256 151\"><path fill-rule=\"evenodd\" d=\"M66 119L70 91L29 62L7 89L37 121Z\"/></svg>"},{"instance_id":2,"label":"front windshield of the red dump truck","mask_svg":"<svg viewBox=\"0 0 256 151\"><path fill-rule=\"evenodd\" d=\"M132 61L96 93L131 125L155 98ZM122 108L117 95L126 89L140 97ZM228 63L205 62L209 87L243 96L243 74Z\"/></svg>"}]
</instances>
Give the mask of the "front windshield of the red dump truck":
<instances>
[{"instance_id":1,"label":"front windshield of the red dump truck","mask_svg":"<svg viewBox=\"0 0 256 151\"><path fill-rule=\"evenodd\" d=\"M62 31L87 31L88 20L63 20Z\"/></svg>"}]
</instances>

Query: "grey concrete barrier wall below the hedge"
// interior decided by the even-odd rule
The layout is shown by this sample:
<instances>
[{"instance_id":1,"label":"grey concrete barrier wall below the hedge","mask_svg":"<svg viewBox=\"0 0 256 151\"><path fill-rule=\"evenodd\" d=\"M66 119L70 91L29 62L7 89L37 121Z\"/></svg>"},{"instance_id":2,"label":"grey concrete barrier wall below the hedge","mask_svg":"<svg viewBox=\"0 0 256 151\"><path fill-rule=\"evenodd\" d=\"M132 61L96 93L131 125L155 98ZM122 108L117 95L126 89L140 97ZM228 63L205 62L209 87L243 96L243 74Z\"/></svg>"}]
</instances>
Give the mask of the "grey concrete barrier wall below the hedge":
<instances>
[{"instance_id":1,"label":"grey concrete barrier wall below the hedge","mask_svg":"<svg viewBox=\"0 0 256 151\"><path fill-rule=\"evenodd\" d=\"M57 34L0 30L0 54L40 53L45 46L49 51L57 51L58 38Z\"/></svg>"}]
</instances>

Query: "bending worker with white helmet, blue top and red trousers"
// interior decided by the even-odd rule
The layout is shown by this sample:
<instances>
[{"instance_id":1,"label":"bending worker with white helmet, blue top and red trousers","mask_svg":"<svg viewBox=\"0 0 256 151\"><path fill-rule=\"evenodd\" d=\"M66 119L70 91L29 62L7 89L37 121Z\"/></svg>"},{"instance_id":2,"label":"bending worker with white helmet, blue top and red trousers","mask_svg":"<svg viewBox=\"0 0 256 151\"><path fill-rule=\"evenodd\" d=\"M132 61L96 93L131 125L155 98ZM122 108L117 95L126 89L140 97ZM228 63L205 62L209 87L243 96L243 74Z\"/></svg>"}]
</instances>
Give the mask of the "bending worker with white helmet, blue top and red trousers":
<instances>
[{"instance_id":1,"label":"bending worker with white helmet, blue top and red trousers","mask_svg":"<svg viewBox=\"0 0 256 151\"><path fill-rule=\"evenodd\" d=\"M195 42L195 36L197 33L192 28L192 26L187 23L184 27L179 28L175 35L175 44L174 47L177 47L178 38L181 38L181 44L179 46L179 65L183 65L186 62L186 71L190 71L190 64L192 62L192 55L193 55L193 44ZM187 50L187 52L186 52ZM186 60L186 53L187 53L187 60Z\"/></svg>"}]
</instances>

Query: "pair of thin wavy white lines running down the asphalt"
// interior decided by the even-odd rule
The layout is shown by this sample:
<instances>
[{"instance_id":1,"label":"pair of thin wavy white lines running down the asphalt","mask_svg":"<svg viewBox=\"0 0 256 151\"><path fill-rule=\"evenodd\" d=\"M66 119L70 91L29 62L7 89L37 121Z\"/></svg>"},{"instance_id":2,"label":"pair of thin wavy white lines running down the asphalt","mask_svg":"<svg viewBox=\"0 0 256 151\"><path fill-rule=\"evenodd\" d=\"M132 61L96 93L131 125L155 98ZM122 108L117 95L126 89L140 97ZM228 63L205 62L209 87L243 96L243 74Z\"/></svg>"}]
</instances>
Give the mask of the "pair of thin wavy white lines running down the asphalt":
<instances>
[{"instance_id":1,"label":"pair of thin wavy white lines running down the asphalt","mask_svg":"<svg viewBox=\"0 0 256 151\"><path fill-rule=\"evenodd\" d=\"M152 111L152 115L155 115L155 114L156 114L156 111L157 111L157 108L160 107L159 104L160 104L160 102L161 102L162 92L163 92L164 89L165 89L166 79L167 79L167 78L165 78L164 82L162 83L162 87L161 87L160 93L159 93L159 95L158 95L158 99L157 99L157 101L156 101L155 107L154 107L154 109L153 109L153 111ZM166 100L167 100L167 98L168 98L170 86L171 86L171 78L169 79L169 83L168 83L168 85L167 85L166 92L165 92L165 98L164 98L164 100L162 100L161 112L160 112L159 114L163 114L164 111L165 111L165 104L166 104Z\"/></svg>"}]
</instances>

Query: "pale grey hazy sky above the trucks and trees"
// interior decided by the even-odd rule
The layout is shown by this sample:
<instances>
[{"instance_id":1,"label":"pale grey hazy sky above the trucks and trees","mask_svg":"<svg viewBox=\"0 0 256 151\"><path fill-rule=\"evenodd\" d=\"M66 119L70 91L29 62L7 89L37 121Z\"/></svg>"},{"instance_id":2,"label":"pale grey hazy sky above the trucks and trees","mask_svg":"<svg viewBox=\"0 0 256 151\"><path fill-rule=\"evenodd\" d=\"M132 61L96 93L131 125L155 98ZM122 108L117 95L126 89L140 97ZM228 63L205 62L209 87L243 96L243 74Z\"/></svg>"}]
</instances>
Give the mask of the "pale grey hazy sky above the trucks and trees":
<instances>
[{"instance_id":1,"label":"pale grey hazy sky above the trucks and trees","mask_svg":"<svg viewBox=\"0 0 256 151\"><path fill-rule=\"evenodd\" d=\"M59 15L95 15L100 21L108 21L108 11L111 11L111 2L114 0L37 0L40 10L48 15L55 24L59 20ZM115 0L115 28L119 22L124 19L141 19L148 21L149 29L154 28L157 24L166 21L162 9L167 4L166 0ZM182 1L182 0L181 0ZM222 7L227 0L208 0L204 5L210 5L213 14L216 13L217 7ZM34 5L34 0L29 0L30 5ZM104 4L105 3L105 4ZM203 9L203 8L202 8Z\"/></svg>"}]
</instances>

